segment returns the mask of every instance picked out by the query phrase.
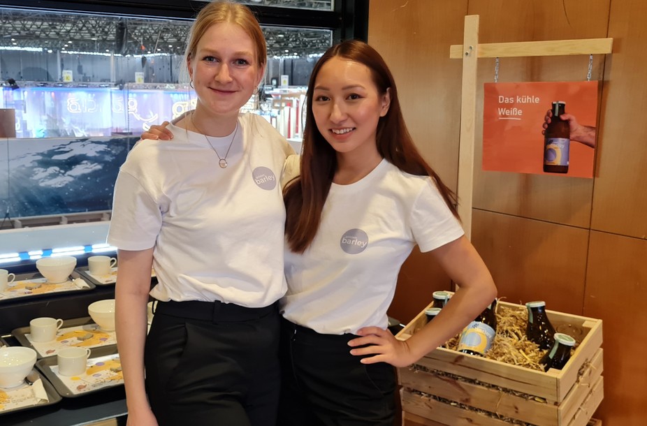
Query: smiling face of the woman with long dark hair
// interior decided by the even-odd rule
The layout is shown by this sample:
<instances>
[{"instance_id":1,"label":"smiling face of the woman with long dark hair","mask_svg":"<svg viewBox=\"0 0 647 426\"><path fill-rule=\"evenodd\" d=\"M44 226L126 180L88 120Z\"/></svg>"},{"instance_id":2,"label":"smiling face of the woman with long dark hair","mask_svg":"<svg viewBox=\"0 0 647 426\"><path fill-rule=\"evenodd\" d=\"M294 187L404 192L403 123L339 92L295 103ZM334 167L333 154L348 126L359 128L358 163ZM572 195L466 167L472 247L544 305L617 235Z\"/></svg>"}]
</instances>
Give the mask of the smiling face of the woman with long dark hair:
<instances>
[{"instance_id":1,"label":"smiling face of the woman with long dark hair","mask_svg":"<svg viewBox=\"0 0 647 426\"><path fill-rule=\"evenodd\" d=\"M380 94L368 66L340 57L321 66L312 91L312 114L338 154L374 153L379 117L390 96Z\"/></svg>"}]
</instances>

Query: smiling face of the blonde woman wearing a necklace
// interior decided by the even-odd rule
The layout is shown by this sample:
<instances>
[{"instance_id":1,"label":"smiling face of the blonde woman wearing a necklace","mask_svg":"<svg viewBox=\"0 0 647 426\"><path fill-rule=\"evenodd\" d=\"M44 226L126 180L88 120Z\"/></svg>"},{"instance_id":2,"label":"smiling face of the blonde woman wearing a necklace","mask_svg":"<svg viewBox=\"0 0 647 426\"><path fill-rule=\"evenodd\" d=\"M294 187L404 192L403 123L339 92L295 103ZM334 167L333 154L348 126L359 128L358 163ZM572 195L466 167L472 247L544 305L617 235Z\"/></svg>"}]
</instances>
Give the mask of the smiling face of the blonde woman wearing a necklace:
<instances>
[{"instance_id":1,"label":"smiling face of the blonde woman wearing a necklace","mask_svg":"<svg viewBox=\"0 0 647 426\"><path fill-rule=\"evenodd\" d=\"M198 103L215 115L238 114L263 77L254 52L254 41L238 25L212 25L188 61Z\"/></svg>"}]
</instances>

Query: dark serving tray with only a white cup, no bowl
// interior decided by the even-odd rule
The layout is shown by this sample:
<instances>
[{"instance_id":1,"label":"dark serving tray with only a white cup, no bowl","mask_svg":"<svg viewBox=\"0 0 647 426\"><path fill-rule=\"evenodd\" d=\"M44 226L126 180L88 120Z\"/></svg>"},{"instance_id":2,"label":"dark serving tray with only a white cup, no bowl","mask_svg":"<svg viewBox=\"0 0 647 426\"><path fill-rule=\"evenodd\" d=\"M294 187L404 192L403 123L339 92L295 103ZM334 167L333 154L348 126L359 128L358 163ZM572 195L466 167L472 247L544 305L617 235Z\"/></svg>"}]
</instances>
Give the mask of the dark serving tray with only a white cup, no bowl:
<instances>
[{"instance_id":1,"label":"dark serving tray with only a white cup, no bowl","mask_svg":"<svg viewBox=\"0 0 647 426\"><path fill-rule=\"evenodd\" d=\"M55 356L36 361L36 367L52 382L61 397L80 397L124 385L124 374L117 346L93 348L87 360L85 373L78 376L59 374Z\"/></svg>"}]
</instances>

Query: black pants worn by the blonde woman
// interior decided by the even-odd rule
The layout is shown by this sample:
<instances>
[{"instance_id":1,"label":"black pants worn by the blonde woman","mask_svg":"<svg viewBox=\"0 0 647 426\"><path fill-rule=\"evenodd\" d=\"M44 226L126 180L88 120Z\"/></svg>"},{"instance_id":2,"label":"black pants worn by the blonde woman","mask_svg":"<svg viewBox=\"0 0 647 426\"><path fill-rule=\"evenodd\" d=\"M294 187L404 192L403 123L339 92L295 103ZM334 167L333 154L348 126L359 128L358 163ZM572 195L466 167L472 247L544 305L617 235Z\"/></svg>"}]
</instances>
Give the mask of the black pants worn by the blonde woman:
<instances>
[{"instance_id":1,"label":"black pants worn by the blonde woman","mask_svg":"<svg viewBox=\"0 0 647 426\"><path fill-rule=\"evenodd\" d=\"M159 302L145 347L159 425L275 425L278 342L276 305Z\"/></svg>"}]
</instances>

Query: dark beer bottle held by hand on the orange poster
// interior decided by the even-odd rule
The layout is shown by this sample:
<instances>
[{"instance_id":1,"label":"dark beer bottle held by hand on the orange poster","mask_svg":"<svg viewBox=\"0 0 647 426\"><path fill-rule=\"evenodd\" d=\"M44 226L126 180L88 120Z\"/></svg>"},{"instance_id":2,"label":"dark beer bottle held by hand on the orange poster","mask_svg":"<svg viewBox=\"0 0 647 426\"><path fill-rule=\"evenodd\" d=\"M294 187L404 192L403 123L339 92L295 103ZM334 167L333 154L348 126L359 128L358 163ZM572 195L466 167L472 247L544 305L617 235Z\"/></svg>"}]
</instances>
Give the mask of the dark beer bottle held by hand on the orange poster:
<instances>
[{"instance_id":1,"label":"dark beer bottle held by hand on the orange poster","mask_svg":"<svg viewBox=\"0 0 647 426\"><path fill-rule=\"evenodd\" d=\"M565 102L553 102L553 117L544 131L544 172L568 172L571 132L568 121L560 119L565 108Z\"/></svg>"}]
</instances>

